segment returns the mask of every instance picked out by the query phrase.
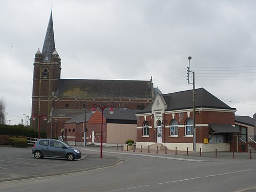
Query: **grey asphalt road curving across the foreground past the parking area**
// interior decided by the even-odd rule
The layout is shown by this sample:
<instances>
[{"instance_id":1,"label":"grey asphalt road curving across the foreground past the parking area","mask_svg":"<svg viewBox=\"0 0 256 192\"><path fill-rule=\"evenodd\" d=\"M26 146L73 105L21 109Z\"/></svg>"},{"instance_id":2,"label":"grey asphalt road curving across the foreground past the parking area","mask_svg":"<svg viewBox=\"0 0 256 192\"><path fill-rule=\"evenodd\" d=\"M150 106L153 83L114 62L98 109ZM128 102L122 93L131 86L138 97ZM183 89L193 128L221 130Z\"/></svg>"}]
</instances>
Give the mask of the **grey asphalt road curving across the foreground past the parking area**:
<instances>
[{"instance_id":1,"label":"grey asphalt road curving across the foreground past the parking area","mask_svg":"<svg viewBox=\"0 0 256 192\"><path fill-rule=\"evenodd\" d=\"M6 149L0 148L0 175L4 177L2 173L7 174L9 171L2 172L5 170L3 168L11 169L15 162L11 162L14 161L12 159L8 159L10 164L3 161L6 158L2 156L2 150ZM37 173L47 169L41 165L50 166L57 172L61 168L89 166L97 160L98 164L112 160L112 164L105 163L101 168L94 166L90 170L84 169L78 173L49 174L46 177L3 181L0 182L0 191L256 191L256 157L249 159L248 153L236 154L236 158L232 158L232 153L225 152L219 153L216 158L214 153L204 153L201 157L198 153L187 156L184 153L174 155L173 152L172 154L168 152L165 155L163 152L149 154L103 148L104 158L98 159L98 147L80 147L80 150L88 154L80 161L68 162L56 159L38 161L29 154L29 150L24 156L17 158L25 158L24 163L40 162L38 165L20 165L36 169ZM89 156L91 161L87 159ZM117 162L115 157L120 158L121 161ZM23 172L26 172L28 167L23 168ZM20 172L15 176L23 173L22 168L16 168Z\"/></svg>"}]
</instances>

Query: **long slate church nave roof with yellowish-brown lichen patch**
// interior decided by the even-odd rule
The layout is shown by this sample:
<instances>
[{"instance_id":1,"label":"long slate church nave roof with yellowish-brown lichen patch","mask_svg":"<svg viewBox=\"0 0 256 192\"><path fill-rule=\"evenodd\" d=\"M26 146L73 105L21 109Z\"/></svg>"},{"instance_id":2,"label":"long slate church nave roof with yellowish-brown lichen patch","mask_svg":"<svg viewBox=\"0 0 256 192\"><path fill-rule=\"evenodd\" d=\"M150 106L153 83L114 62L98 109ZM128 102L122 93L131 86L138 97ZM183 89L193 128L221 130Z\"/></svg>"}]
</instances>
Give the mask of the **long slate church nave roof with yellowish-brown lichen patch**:
<instances>
[{"instance_id":1,"label":"long slate church nave roof with yellowish-brown lichen patch","mask_svg":"<svg viewBox=\"0 0 256 192\"><path fill-rule=\"evenodd\" d=\"M58 97L152 98L151 81L59 79Z\"/></svg>"}]
</instances>

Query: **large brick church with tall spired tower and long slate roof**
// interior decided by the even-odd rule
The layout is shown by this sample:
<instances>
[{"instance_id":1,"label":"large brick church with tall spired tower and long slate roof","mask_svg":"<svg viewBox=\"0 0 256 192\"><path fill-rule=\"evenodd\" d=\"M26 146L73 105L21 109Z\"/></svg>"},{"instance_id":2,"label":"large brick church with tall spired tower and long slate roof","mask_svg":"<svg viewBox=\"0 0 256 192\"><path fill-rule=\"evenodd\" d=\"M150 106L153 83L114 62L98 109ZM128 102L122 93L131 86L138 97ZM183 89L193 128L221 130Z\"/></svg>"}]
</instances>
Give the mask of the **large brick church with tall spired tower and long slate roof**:
<instances>
[{"instance_id":1,"label":"large brick church with tall spired tower and long slate roof","mask_svg":"<svg viewBox=\"0 0 256 192\"><path fill-rule=\"evenodd\" d=\"M89 112L93 104L142 110L161 94L150 80L61 79L61 59L55 49L52 12L42 50L34 58L31 127L48 138L63 135L64 123Z\"/></svg>"}]
</instances>

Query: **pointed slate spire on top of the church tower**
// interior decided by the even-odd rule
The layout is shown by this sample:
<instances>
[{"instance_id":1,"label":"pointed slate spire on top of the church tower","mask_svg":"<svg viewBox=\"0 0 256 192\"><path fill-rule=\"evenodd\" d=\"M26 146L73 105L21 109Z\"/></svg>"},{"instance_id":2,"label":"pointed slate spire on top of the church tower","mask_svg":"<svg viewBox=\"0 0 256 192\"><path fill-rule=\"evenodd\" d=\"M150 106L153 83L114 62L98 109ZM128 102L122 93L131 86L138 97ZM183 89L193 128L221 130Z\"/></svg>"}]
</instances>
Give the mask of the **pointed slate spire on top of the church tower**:
<instances>
[{"instance_id":1,"label":"pointed slate spire on top of the church tower","mask_svg":"<svg viewBox=\"0 0 256 192\"><path fill-rule=\"evenodd\" d=\"M54 33L53 33L53 22L52 22L52 11L46 31L46 37L44 46L42 46L42 61L51 62L52 53L55 50Z\"/></svg>"}]
</instances>

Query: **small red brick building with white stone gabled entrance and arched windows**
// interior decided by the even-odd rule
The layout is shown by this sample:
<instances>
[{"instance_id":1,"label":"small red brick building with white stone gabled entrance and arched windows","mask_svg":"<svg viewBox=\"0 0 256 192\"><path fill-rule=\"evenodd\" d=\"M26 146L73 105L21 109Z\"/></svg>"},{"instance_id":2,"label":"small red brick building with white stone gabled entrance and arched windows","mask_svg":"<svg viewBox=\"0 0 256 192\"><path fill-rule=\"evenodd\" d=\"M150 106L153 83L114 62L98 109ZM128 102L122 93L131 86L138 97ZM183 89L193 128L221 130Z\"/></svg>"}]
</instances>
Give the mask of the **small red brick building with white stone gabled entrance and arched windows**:
<instances>
[{"instance_id":1,"label":"small red brick building with white stone gabled entrance and arched windows","mask_svg":"<svg viewBox=\"0 0 256 192\"><path fill-rule=\"evenodd\" d=\"M196 139L193 127L193 90L158 95L151 106L136 114L137 147L162 144L169 150L230 151L237 145L236 109L200 88L196 95Z\"/></svg>"}]
</instances>

